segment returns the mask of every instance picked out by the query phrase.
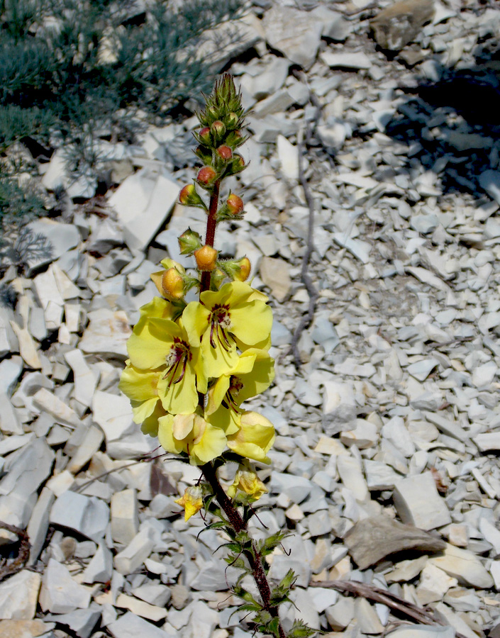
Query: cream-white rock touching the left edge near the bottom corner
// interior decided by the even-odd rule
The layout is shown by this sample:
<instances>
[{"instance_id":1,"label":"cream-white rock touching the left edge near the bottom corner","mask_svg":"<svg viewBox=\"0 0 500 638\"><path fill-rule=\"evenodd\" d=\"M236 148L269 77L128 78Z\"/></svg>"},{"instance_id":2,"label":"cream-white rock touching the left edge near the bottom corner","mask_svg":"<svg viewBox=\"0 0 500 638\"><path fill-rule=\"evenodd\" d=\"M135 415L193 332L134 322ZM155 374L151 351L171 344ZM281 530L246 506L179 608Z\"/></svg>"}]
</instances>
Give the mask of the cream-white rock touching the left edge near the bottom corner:
<instances>
[{"instance_id":1,"label":"cream-white rock touching the left edge near the bottom corner","mask_svg":"<svg viewBox=\"0 0 500 638\"><path fill-rule=\"evenodd\" d=\"M2 620L34 618L41 583L40 574L27 569L15 573L0 583L0 618Z\"/></svg>"}]
</instances>

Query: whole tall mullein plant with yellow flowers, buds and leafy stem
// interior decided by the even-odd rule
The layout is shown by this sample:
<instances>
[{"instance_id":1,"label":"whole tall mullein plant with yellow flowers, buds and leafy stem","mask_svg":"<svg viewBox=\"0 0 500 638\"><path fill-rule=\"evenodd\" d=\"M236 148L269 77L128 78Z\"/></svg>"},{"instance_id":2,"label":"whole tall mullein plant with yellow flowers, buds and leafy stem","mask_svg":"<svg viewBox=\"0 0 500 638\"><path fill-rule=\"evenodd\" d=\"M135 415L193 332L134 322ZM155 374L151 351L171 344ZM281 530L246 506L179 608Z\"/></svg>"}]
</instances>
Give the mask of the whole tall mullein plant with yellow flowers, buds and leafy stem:
<instances>
[{"instance_id":1,"label":"whole tall mullein plant with yellow flowers, buds and leafy stem","mask_svg":"<svg viewBox=\"0 0 500 638\"><path fill-rule=\"evenodd\" d=\"M247 283L248 258L219 259L214 247L218 223L241 219L245 212L240 196L220 196L223 179L245 169L238 153L247 139L242 132L245 112L230 75L216 82L198 118L196 155L204 166L179 194L180 203L202 208L207 215L204 240L190 228L179 237L181 254L194 256L196 276L172 259L163 259L162 270L151 275L161 296L140 309L119 387L146 435L157 436L167 452L199 466L198 483L176 503L184 508L185 520L204 509L215 519L207 527L226 532L226 561L241 571L233 587L243 599L239 609L255 612L252 620L259 632L307 637L315 632L302 622L285 633L279 620L279 605L291 602L293 571L279 583L267 578L265 556L287 533L255 540L248 531L255 515L252 503L267 492L251 461L270 463L274 427L242 403L274 379L268 352L272 310L267 297ZM208 204L199 191L205 192ZM192 288L199 291L198 300L187 303L185 295ZM233 483L223 486L218 469L228 461L236 461L238 470ZM248 574L255 579L258 597L244 587Z\"/></svg>"}]
</instances>

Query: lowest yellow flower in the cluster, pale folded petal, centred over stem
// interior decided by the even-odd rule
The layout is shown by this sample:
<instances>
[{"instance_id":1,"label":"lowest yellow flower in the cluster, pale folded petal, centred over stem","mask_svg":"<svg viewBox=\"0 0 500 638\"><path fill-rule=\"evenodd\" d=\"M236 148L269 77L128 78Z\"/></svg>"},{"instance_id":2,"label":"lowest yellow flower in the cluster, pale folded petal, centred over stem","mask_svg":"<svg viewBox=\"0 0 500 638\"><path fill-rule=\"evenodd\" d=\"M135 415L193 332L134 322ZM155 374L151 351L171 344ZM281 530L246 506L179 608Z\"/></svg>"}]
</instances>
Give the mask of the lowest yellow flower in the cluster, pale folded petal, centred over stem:
<instances>
[{"instance_id":1,"label":"lowest yellow flower in the cluster, pale folded petal, centred over stem","mask_svg":"<svg viewBox=\"0 0 500 638\"><path fill-rule=\"evenodd\" d=\"M158 419L158 425L158 440L162 447L173 454L186 452L191 465L213 461L226 448L223 430L199 414L167 414Z\"/></svg>"}]
</instances>

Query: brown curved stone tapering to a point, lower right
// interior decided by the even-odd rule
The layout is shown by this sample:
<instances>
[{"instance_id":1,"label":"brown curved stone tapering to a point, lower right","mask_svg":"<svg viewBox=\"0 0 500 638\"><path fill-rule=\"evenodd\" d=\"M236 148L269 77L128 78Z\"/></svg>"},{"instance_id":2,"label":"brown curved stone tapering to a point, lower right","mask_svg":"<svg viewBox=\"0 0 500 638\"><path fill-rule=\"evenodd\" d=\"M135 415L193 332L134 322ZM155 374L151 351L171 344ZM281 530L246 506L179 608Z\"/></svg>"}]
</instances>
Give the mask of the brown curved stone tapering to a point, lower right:
<instances>
[{"instance_id":1,"label":"brown curved stone tapering to a point, lower right","mask_svg":"<svg viewBox=\"0 0 500 638\"><path fill-rule=\"evenodd\" d=\"M383 515L356 522L345 535L344 542L360 569L374 565L385 556L409 549L440 552L445 548L445 542L441 539Z\"/></svg>"}]
</instances>

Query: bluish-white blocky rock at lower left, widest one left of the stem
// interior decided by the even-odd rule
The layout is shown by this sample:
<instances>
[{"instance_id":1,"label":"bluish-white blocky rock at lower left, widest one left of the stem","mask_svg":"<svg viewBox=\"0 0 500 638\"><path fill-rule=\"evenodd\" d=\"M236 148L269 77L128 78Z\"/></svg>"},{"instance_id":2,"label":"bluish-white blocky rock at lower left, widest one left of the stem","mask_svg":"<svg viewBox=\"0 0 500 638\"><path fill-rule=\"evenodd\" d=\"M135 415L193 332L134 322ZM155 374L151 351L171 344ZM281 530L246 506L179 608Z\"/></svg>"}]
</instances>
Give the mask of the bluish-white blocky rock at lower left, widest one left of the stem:
<instances>
[{"instance_id":1,"label":"bluish-white blocky rock at lower left, widest one left of the stem","mask_svg":"<svg viewBox=\"0 0 500 638\"><path fill-rule=\"evenodd\" d=\"M99 542L109 523L109 507L96 496L66 491L52 505L50 522L69 527L70 530Z\"/></svg>"}]
</instances>

